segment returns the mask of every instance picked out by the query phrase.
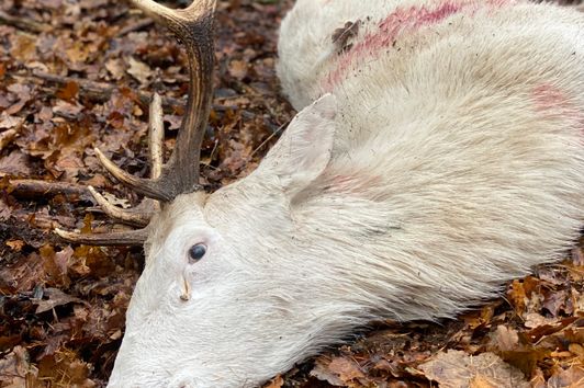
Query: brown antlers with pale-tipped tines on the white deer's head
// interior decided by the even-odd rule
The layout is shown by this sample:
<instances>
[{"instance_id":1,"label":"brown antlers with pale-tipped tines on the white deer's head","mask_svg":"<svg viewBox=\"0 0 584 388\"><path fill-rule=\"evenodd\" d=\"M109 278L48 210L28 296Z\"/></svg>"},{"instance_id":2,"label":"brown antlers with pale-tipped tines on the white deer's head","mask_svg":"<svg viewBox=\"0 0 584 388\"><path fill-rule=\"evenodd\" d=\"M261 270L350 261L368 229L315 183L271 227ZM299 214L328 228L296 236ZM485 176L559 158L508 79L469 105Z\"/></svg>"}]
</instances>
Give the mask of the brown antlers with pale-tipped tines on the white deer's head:
<instances>
[{"instance_id":1,"label":"brown antlers with pale-tipped tines on the white deer's head","mask_svg":"<svg viewBox=\"0 0 584 388\"><path fill-rule=\"evenodd\" d=\"M90 193L110 217L125 224L146 227L151 215L159 208L158 201L170 202L179 194L202 190L199 184L199 162L213 93L212 24L216 0L195 0L183 10L172 10L153 0L130 1L157 22L166 25L183 42L189 59L191 81L186 113L175 150L166 164L162 164L161 101L157 94L153 99L148 138L151 163L149 179L131 175L96 148L96 155L112 175L147 198L138 207L124 210L110 204L91 186ZM70 242L94 246L139 244L146 240L147 236L145 229L97 235L71 233L60 229L55 229L55 232Z\"/></svg>"}]
</instances>

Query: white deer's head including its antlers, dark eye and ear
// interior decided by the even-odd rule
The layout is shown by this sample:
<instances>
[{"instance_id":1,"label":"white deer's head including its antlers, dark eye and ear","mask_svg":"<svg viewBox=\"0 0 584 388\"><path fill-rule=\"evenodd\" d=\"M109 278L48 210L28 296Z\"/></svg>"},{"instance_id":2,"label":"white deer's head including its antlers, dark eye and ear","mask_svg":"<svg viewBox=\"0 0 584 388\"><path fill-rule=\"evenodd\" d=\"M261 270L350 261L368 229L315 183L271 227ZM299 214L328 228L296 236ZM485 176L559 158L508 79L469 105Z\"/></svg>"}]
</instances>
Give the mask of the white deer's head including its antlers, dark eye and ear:
<instances>
[{"instance_id":1,"label":"white deer's head including its antlers, dark eye and ear","mask_svg":"<svg viewBox=\"0 0 584 388\"><path fill-rule=\"evenodd\" d=\"M282 233L294 235L291 204L328 163L335 99L325 95L301 112L251 175L207 194L199 184L199 153L212 100L215 1L194 1L184 10L151 0L132 3L168 26L187 47L191 84L177 146L162 164L161 105L155 95L151 179L130 175L96 150L112 175L149 199L122 210L90 187L109 216L144 228L56 232L86 244L144 243L146 264L127 310L110 387L256 385L291 367L306 351L299 335L317 334L328 324L311 327L313 319L302 328L289 324L291 317L312 312L306 310L308 299L292 303L301 295L306 298L302 282L291 293L281 287L290 284L289 275L281 273L305 272L291 253L303 248L283 241ZM288 270L273 262L276 256Z\"/></svg>"}]
</instances>

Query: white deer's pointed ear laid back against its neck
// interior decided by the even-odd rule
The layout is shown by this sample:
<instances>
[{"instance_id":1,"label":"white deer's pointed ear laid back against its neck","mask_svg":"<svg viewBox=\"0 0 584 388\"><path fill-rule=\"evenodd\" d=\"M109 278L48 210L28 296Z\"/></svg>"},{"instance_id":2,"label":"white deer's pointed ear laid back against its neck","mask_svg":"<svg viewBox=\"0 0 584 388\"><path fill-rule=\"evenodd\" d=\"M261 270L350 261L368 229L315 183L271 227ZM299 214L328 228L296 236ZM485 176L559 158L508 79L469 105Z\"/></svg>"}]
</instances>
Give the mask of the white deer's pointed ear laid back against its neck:
<instances>
[{"instance_id":1,"label":"white deer's pointed ear laid back against its neck","mask_svg":"<svg viewBox=\"0 0 584 388\"><path fill-rule=\"evenodd\" d=\"M328 164L336 114L335 96L323 95L296 114L266 157L270 172L276 173L287 191L302 191Z\"/></svg>"}]
</instances>

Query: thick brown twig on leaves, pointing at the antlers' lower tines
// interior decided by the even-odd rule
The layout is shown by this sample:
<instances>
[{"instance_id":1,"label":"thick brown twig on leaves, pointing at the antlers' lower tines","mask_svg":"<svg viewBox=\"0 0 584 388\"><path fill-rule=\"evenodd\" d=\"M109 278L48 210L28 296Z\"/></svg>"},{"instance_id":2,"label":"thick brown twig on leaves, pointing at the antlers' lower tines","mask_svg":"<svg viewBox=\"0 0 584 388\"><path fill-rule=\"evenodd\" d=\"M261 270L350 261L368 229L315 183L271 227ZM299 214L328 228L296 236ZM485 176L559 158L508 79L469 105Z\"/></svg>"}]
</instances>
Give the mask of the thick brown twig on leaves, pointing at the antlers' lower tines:
<instances>
[{"instance_id":1,"label":"thick brown twig on leaves, pointing at the antlers' lower tines","mask_svg":"<svg viewBox=\"0 0 584 388\"><path fill-rule=\"evenodd\" d=\"M40 196L75 195L83 199L92 196L87 186L67 182L46 182L32 179L10 180L9 191L18 197L34 198Z\"/></svg>"}]
</instances>

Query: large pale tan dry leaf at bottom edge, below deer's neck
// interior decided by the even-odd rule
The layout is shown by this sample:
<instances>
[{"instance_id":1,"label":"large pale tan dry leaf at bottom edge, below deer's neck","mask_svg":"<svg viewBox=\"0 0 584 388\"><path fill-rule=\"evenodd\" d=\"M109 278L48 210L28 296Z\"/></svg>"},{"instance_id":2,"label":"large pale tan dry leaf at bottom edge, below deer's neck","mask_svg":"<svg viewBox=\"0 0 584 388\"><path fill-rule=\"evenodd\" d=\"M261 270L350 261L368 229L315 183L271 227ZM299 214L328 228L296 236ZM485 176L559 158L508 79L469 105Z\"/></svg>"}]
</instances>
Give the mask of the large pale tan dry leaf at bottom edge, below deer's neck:
<instances>
[{"instance_id":1,"label":"large pale tan dry leaf at bottom edge, below deer's neck","mask_svg":"<svg viewBox=\"0 0 584 388\"><path fill-rule=\"evenodd\" d=\"M476 356L462 351L440 352L419 366L426 377L440 388L527 388L523 373L506 364L494 353Z\"/></svg>"}]
</instances>

